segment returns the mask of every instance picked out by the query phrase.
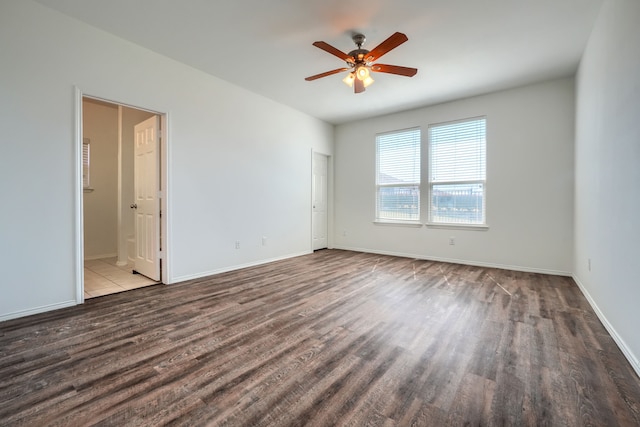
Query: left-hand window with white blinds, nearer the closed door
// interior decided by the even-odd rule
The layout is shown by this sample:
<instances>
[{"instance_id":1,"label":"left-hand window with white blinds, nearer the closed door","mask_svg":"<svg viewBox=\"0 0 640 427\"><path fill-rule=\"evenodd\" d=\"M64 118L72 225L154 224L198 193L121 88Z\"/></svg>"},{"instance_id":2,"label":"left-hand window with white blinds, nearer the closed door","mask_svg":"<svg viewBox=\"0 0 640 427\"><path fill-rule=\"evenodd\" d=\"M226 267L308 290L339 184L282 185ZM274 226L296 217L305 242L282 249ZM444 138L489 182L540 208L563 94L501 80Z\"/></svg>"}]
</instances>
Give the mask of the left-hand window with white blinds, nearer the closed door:
<instances>
[{"instance_id":1,"label":"left-hand window with white blinds, nearer the closed door","mask_svg":"<svg viewBox=\"0 0 640 427\"><path fill-rule=\"evenodd\" d=\"M376 220L420 220L420 129L376 135Z\"/></svg>"}]
</instances>

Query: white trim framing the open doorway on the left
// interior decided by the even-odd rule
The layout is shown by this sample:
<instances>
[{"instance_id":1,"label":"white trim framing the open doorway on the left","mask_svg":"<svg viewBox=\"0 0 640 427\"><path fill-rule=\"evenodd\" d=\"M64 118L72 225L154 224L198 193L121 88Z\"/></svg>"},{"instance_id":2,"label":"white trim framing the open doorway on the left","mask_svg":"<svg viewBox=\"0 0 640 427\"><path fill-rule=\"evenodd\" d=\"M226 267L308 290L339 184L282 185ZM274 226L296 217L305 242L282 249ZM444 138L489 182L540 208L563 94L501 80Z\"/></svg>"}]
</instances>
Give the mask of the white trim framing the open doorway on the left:
<instances>
[{"instance_id":1,"label":"white trim framing the open doorway on the left","mask_svg":"<svg viewBox=\"0 0 640 427\"><path fill-rule=\"evenodd\" d=\"M74 170L74 250L75 250L75 265L74 265L74 280L75 280L75 300L76 304L84 303L84 193L82 189L82 98L91 98L99 101L108 102L114 105L123 107L135 108L138 110L149 111L150 113L157 114L160 117L160 211L162 215L160 217L160 235L161 235L161 250L162 250L162 267L161 267L161 281L164 284L170 284L171 282L171 263L170 263L170 248L171 248L171 227L169 225L168 218L171 217L171 211L169 203L170 200L170 179L169 179L169 164L171 159L171 145L169 144L169 117L170 112L156 111L149 108L138 107L135 105L127 104L121 101L115 101L108 99L107 97L100 97L96 95L90 95L83 93L78 87L74 86L74 126L73 126L73 139L74 139L74 158L75 158L75 170Z\"/></svg>"}]
</instances>

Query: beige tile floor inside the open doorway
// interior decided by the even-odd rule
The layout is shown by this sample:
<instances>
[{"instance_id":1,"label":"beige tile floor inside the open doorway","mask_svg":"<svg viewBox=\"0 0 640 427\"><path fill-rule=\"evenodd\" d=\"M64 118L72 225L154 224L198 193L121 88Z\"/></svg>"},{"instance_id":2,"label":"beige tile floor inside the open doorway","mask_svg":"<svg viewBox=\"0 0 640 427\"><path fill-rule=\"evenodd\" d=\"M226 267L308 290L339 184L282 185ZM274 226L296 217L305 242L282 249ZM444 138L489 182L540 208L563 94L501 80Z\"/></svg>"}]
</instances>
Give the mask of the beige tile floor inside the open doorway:
<instances>
[{"instance_id":1,"label":"beige tile floor inside the open doorway","mask_svg":"<svg viewBox=\"0 0 640 427\"><path fill-rule=\"evenodd\" d=\"M133 265L119 267L117 259L104 258L84 262L84 298L115 294L158 282L141 274L133 274Z\"/></svg>"}]
</instances>

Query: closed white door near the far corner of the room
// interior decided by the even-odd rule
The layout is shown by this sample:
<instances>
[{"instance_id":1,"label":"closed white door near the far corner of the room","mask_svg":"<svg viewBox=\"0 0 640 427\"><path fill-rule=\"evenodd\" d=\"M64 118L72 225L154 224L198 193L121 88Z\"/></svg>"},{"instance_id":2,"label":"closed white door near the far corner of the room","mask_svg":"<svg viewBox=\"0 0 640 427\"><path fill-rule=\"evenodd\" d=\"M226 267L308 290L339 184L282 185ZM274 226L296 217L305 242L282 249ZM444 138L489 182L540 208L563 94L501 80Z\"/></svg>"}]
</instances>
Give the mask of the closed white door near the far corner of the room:
<instances>
[{"instance_id":1,"label":"closed white door near the far corner of the room","mask_svg":"<svg viewBox=\"0 0 640 427\"><path fill-rule=\"evenodd\" d=\"M313 153L312 228L313 250L327 247L327 156Z\"/></svg>"}]
</instances>

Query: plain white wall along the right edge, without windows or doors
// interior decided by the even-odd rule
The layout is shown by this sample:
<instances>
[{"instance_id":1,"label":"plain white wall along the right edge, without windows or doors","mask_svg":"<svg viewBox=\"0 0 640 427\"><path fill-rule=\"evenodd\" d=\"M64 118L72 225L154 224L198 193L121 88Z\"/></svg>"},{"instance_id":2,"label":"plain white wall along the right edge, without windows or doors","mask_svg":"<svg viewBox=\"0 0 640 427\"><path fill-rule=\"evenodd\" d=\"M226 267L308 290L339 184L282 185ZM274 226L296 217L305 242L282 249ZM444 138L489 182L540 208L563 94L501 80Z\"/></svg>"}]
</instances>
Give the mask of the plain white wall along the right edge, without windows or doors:
<instances>
[{"instance_id":1,"label":"plain white wall along the right edge, without windows or doors","mask_svg":"<svg viewBox=\"0 0 640 427\"><path fill-rule=\"evenodd\" d=\"M605 2L580 64L574 278L640 375L639 22L637 0Z\"/></svg>"}]
</instances>

